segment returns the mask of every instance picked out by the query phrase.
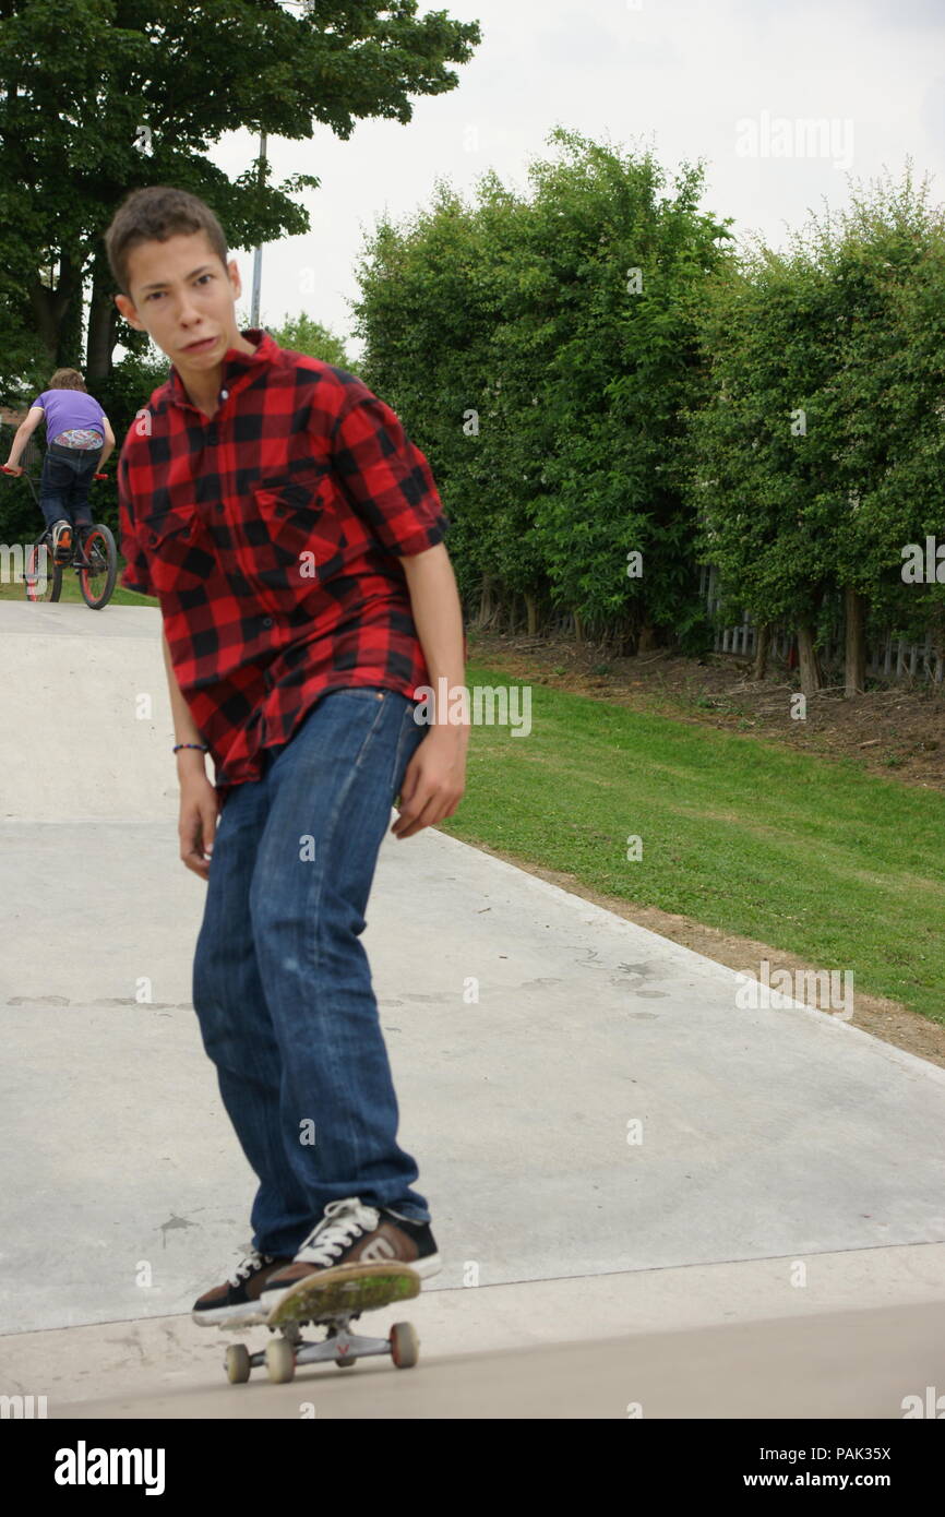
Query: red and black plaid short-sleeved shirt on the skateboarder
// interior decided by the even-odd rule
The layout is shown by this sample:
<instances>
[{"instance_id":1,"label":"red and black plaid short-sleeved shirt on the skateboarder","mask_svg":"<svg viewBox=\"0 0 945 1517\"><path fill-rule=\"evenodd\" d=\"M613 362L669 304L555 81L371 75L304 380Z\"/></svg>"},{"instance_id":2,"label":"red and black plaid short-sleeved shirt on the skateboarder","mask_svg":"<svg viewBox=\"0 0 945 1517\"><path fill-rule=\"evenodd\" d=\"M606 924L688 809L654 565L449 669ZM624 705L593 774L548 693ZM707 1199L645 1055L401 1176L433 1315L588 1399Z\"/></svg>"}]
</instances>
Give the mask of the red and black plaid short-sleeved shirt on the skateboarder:
<instances>
[{"instance_id":1,"label":"red and black plaid short-sleeved shirt on the skateboarder","mask_svg":"<svg viewBox=\"0 0 945 1517\"><path fill-rule=\"evenodd\" d=\"M449 526L366 384L243 335L255 352L228 349L212 419L171 369L118 460L120 583L161 601L221 806L326 690L429 684L399 558Z\"/></svg>"}]
</instances>

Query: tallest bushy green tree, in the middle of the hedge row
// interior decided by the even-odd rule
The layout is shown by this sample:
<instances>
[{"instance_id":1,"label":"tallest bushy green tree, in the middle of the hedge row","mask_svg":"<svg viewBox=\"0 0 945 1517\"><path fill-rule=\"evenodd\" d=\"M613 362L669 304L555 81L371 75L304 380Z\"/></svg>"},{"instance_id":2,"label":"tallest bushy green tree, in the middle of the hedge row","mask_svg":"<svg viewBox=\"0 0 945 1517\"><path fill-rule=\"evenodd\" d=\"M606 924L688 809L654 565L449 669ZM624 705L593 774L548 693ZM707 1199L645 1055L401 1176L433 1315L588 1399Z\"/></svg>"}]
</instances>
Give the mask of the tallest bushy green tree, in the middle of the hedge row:
<instances>
[{"instance_id":1,"label":"tallest bushy green tree, in the middle of the hedge row","mask_svg":"<svg viewBox=\"0 0 945 1517\"><path fill-rule=\"evenodd\" d=\"M535 542L555 604L636 651L701 616L678 448L701 363L695 313L727 232L699 208L701 167L663 193L649 152L563 129L551 140L560 155L531 168L508 309L532 394L542 378Z\"/></svg>"}]
</instances>

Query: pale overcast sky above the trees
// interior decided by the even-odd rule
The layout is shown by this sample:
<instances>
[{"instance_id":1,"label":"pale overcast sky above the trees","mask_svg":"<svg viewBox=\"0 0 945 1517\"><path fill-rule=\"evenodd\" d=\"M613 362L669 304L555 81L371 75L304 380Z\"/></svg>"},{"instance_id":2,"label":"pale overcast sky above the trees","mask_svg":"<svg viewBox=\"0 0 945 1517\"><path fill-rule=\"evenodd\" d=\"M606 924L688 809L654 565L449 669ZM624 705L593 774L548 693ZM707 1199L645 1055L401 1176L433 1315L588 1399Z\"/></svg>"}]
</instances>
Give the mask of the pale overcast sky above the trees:
<instances>
[{"instance_id":1,"label":"pale overcast sky above the trees","mask_svg":"<svg viewBox=\"0 0 945 1517\"><path fill-rule=\"evenodd\" d=\"M311 231L267 244L261 323L306 311L347 340L363 231L428 205L434 182L469 193L487 168L523 190L561 124L623 150L651 146L672 174L705 159L704 206L733 232L780 246L786 228L848 200L907 158L945 199L945 0L420 0L478 20L482 42L460 83L420 99L408 126L361 121L347 143L270 138L276 182L319 174ZM261 80L264 88L264 80ZM824 121L812 140L804 121ZM214 159L231 176L258 140L229 135ZM252 253L234 250L249 319Z\"/></svg>"}]
</instances>

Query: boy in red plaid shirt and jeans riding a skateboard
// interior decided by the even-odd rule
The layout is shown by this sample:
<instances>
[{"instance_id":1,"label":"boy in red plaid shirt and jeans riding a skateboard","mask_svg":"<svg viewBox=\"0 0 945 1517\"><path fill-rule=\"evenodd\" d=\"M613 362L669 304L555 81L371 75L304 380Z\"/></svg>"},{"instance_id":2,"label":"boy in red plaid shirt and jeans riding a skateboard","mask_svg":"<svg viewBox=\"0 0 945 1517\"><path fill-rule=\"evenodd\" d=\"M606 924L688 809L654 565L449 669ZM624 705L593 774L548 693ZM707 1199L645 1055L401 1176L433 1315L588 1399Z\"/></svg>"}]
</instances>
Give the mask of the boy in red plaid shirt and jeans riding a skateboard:
<instances>
[{"instance_id":1,"label":"boy in red plaid shirt and jeans riding a skateboard","mask_svg":"<svg viewBox=\"0 0 945 1517\"><path fill-rule=\"evenodd\" d=\"M414 721L417 686L464 689L463 614L426 458L359 379L237 331L211 209L137 190L106 250L171 361L118 461L120 583L161 602L194 1009L259 1180L252 1252L193 1315L264 1321L316 1271L441 1268L359 933L394 798L402 839L463 796L467 722Z\"/></svg>"}]
</instances>

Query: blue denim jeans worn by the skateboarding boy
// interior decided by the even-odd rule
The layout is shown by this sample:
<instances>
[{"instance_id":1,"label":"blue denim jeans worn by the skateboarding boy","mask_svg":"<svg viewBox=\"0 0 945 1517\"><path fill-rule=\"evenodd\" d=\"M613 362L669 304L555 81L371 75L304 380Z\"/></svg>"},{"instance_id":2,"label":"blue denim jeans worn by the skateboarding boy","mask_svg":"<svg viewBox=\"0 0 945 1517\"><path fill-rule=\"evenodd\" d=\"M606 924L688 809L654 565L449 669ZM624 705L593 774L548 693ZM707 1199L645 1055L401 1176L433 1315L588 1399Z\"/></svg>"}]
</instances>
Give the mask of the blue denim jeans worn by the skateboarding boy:
<instances>
[{"instance_id":1,"label":"blue denim jeans worn by the skateboarding boy","mask_svg":"<svg viewBox=\"0 0 945 1517\"><path fill-rule=\"evenodd\" d=\"M359 933L407 765L429 731L397 690L329 690L261 780L231 790L194 956L194 1009L259 1180L253 1247L291 1258L328 1201L429 1221ZM402 846L396 843L396 846ZM312 857L314 856L314 857ZM405 903L410 910L410 903Z\"/></svg>"}]
</instances>

